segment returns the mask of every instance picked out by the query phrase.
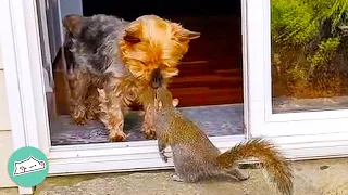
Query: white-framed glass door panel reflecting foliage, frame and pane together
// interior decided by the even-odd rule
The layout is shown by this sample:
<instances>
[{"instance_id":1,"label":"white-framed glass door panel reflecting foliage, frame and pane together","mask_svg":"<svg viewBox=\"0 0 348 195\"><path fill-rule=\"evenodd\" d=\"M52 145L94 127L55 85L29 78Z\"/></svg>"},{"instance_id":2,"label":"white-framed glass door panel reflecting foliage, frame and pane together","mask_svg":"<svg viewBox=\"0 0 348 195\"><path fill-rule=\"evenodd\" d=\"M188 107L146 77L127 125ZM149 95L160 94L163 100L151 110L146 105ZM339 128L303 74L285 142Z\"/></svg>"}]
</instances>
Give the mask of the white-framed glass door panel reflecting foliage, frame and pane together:
<instances>
[{"instance_id":1,"label":"white-framed glass door panel reflecting foliage, frame and pane together","mask_svg":"<svg viewBox=\"0 0 348 195\"><path fill-rule=\"evenodd\" d=\"M247 0L251 136L347 140L348 2Z\"/></svg>"}]
</instances>

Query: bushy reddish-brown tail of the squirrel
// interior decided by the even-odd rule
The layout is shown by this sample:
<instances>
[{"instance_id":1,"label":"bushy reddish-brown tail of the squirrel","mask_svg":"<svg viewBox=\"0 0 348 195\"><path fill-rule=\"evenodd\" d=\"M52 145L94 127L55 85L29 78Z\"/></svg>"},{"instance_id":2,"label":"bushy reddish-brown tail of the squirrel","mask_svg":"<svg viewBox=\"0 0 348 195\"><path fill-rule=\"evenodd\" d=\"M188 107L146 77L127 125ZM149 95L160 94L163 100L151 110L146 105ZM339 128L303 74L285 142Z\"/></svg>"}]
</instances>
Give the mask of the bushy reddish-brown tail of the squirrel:
<instances>
[{"instance_id":1,"label":"bushy reddish-brown tail of the squirrel","mask_svg":"<svg viewBox=\"0 0 348 195\"><path fill-rule=\"evenodd\" d=\"M217 157L217 164L221 169L229 169L236 160L248 157L256 157L263 164L281 193L293 194L293 171L283 155L269 141L258 138L237 144L221 154Z\"/></svg>"}]
</instances>

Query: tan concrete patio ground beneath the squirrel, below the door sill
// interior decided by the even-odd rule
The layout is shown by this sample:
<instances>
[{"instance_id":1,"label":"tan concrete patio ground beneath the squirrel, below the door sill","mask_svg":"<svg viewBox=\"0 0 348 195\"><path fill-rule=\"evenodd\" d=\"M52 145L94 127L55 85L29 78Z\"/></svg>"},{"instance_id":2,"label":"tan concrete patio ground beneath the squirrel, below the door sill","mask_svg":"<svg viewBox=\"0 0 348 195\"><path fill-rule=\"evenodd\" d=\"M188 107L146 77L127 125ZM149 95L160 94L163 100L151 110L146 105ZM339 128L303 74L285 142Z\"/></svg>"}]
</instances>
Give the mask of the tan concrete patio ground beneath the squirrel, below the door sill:
<instances>
[{"instance_id":1,"label":"tan concrete patio ground beneath the squirrel, below the door sill","mask_svg":"<svg viewBox=\"0 0 348 195\"><path fill-rule=\"evenodd\" d=\"M348 195L348 158L296 161L294 195ZM246 169L250 179L219 179L197 184L173 182L169 171L142 171L48 178L36 195L273 195L261 169ZM15 188L1 195L17 194Z\"/></svg>"}]
</instances>

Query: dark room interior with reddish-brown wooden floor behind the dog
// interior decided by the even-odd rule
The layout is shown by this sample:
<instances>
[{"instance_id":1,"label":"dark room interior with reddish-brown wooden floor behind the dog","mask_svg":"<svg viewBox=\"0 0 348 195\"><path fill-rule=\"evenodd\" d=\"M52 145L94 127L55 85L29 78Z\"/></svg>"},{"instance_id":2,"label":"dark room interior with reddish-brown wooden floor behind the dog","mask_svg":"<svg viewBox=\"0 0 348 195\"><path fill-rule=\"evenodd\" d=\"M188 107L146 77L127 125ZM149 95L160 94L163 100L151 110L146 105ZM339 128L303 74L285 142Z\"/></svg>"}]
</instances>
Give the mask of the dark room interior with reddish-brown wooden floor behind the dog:
<instances>
[{"instance_id":1,"label":"dark room interior with reddish-brown wooden floor behind the dog","mask_svg":"<svg viewBox=\"0 0 348 195\"><path fill-rule=\"evenodd\" d=\"M173 20L174 21L174 20ZM243 103L240 18L175 18L184 27L201 32L179 65L170 89L179 106ZM61 60L58 60L58 66ZM57 108L66 113L64 74L54 72Z\"/></svg>"}]
</instances>

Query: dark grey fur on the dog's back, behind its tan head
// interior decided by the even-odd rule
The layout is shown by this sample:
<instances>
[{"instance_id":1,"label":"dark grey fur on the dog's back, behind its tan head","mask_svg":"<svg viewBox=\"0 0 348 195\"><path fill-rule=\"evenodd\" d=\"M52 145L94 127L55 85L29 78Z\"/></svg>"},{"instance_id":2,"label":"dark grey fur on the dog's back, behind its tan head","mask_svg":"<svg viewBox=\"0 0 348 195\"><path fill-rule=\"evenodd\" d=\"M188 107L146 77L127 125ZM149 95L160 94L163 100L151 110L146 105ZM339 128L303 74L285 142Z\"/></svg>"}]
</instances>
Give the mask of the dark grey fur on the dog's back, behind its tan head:
<instances>
[{"instance_id":1,"label":"dark grey fur on the dog's back, behind its tan head","mask_svg":"<svg viewBox=\"0 0 348 195\"><path fill-rule=\"evenodd\" d=\"M71 52L76 66L96 75L127 74L119 57L117 42L129 22L103 14L84 17L77 34L71 35Z\"/></svg>"}]
</instances>

